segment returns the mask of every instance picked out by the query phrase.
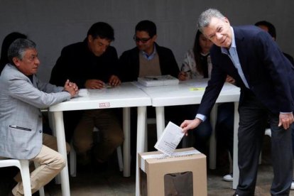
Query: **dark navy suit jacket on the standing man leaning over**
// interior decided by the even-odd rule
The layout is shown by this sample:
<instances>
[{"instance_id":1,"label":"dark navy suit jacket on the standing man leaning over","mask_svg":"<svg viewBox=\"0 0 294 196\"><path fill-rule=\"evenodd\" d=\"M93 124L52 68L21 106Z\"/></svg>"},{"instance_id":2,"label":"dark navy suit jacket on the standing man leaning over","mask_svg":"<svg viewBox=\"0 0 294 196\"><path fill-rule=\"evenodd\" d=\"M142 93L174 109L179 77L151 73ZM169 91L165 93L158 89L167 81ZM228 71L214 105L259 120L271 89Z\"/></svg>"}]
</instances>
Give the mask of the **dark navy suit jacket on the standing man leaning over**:
<instances>
[{"instance_id":1,"label":"dark navy suit jacket on the standing man leaning over","mask_svg":"<svg viewBox=\"0 0 294 196\"><path fill-rule=\"evenodd\" d=\"M294 68L266 31L256 26L233 27L236 50L241 68L251 92L273 114L293 111ZM246 88L236 67L221 48L214 45L210 51L212 77L209 80L198 114L209 115L227 75L241 87L239 104Z\"/></svg>"}]
</instances>

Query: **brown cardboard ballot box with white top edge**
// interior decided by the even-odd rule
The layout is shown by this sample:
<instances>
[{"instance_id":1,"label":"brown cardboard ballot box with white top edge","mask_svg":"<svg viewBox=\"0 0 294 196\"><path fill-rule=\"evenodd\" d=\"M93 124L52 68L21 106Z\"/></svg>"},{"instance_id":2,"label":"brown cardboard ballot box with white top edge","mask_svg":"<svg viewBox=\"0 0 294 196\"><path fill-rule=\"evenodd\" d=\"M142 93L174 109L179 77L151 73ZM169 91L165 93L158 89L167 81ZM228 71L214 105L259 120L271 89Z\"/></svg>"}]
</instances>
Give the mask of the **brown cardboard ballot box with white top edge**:
<instances>
[{"instance_id":1,"label":"brown cardboard ballot box with white top edge","mask_svg":"<svg viewBox=\"0 0 294 196\"><path fill-rule=\"evenodd\" d=\"M207 195L206 156L195 148L139 153L138 166L141 195Z\"/></svg>"}]
</instances>

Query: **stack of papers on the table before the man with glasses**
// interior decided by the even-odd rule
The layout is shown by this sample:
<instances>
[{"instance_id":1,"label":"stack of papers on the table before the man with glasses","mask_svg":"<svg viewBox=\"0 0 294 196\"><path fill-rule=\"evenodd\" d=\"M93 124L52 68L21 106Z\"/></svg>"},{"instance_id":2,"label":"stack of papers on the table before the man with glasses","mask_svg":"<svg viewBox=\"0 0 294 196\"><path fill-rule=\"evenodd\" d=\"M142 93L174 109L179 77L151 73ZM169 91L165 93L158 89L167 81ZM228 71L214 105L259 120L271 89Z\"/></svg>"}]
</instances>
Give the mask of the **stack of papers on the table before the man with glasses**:
<instances>
[{"instance_id":1,"label":"stack of papers on the table before the man with glasses","mask_svg":"<svg viewBox=\"0 0 294 196\"><path fill-rule=\"evenodd\" d=\"M178 85L179 80L171 75L156 75L156 76L146 76L138 77L138 82L145 87L156 87L156 86L166 86L166 85Z\"/></svg>"}]
</instances>

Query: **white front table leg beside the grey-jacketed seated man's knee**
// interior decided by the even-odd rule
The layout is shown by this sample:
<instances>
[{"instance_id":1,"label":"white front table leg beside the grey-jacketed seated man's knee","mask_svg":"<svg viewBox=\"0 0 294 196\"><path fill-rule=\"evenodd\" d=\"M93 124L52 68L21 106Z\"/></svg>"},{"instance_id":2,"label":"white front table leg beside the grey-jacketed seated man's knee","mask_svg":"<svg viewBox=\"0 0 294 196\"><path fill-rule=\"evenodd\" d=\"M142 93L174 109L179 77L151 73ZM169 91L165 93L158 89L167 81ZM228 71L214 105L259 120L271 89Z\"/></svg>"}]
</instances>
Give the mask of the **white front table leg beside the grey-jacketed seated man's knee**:
<instances>
[{"instance_id":1,"label":"white front table leg beside the grey-jacketed seated man's knee","mask_svg":"<svg viewBox=\"0 0 294 196\"><path fill-rule=\"evenodd\" d=\"M68 177L68 167L67 167L67 153L65 144L65 126L63 124L63 114L62 111L54 111L54 124L55 124L55 136L58 143L58 152L65 159L65 168L60 172L61 177L61 190L63 196L70 196L70 180Z\"/></svg>"}]
</instances>

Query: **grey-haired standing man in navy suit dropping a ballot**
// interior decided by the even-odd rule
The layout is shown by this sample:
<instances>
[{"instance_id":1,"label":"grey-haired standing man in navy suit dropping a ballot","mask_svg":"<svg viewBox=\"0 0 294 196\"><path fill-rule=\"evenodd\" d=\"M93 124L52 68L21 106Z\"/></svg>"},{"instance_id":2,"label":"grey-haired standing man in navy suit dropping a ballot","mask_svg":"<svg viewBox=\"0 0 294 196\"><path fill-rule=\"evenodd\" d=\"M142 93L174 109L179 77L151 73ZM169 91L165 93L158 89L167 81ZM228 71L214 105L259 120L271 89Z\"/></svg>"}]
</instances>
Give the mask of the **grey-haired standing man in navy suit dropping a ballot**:
<instances>
[{"instance_id":1,"label":"grey-haired standing man in navy suit dropping a ballot","mask_svg":"<svg viewBox=\"0 0 294 196\"><path fill-rule=\"evenodd\" d=\"M198 19L200 31L212 40L212 76L194 120L181 124L193 129L209 115L227 75L241 87L239 100L239 185L235 195L254 195L258 157L266 120L271 121L273 184L271 195L289 195L292 182L294 70L271 36L256 26L230 26L215 9Z\"/></svg>"}]
</instances>

